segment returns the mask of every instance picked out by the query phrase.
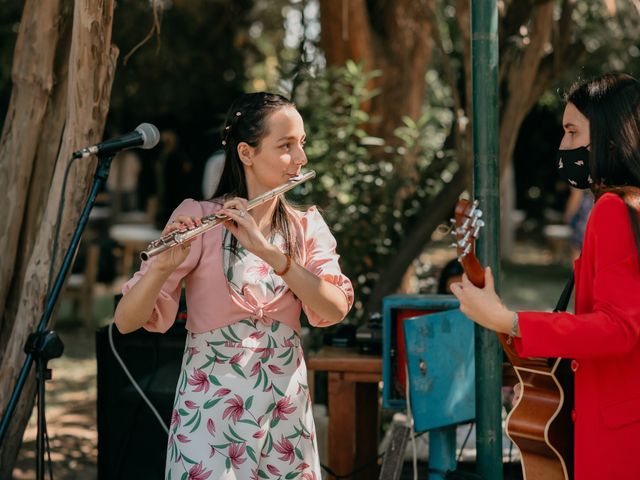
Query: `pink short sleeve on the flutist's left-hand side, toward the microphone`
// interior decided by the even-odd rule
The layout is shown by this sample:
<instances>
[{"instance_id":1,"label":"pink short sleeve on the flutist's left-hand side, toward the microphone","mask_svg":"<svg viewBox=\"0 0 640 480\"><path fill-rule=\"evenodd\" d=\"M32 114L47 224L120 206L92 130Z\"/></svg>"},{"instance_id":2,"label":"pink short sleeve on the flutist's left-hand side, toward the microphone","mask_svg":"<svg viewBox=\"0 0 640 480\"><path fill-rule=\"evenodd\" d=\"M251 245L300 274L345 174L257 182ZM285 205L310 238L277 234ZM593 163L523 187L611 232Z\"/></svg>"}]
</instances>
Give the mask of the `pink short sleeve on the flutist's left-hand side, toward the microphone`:
<instances>
[{"instance_id":1,"label":"pink short sleeve on the flutist's left-hand side, toward the microphone","mask_svg":"<svg viewBox=\"0 0 640 480\"><path fill-rule=\"evenodd\" d=\"M179 215L200 218L203 216L202 206L195 200L184 200L178 208L173 211L167 224L172 222ZM143 325L145 330L164 333L169 330L171 325L173 325L173 322L176 319L176 314L178 313L180 291L182 290L182 279L196 267L200 260L201 252L202 236L199 236L191 244L191 251L189 252L187 259L182 262L182 264L176 268L171 275L169 275L169 278L167 278L167 281L162 286L162 289L158 294L158 298L156 298L156 304L153 308L151 317L149 318L149 321ZM155 258L156 257L153 257L146 262L142 262L140 270L138 270L122 287L122 293L124 295L126 295L127 292L131 290L131 288L138 283L142 276L149 270L150 266L155 261Z\"/></svg>"}]
</instances>

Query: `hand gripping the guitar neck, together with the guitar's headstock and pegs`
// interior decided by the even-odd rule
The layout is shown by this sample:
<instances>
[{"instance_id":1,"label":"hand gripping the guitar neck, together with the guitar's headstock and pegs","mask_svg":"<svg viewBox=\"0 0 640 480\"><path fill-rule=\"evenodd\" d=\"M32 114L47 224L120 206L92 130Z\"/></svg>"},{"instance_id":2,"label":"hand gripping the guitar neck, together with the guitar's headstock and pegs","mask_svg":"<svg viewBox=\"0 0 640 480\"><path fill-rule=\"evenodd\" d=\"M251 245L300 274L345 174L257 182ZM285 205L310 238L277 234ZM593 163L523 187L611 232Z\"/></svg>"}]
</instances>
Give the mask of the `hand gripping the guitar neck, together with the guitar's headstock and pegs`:
<instances>
[{"instance_id":1,"label":"hand gripping the guitar neck, together with the guitar's headstock and pegs","mask_svg":"<svg viewBox=\"0 0 640 480\"><path fill-rule=\"evenodd\" d=\"M465 274L461 282L451 285L460 300L460 310L474 322L498 333L509 334L515 313L496 294L491 268L482 268L475 255L475 241L484 222L477 202L460 200L456 206L454 231L458 260Z\"/></svg>"}]
</instances>

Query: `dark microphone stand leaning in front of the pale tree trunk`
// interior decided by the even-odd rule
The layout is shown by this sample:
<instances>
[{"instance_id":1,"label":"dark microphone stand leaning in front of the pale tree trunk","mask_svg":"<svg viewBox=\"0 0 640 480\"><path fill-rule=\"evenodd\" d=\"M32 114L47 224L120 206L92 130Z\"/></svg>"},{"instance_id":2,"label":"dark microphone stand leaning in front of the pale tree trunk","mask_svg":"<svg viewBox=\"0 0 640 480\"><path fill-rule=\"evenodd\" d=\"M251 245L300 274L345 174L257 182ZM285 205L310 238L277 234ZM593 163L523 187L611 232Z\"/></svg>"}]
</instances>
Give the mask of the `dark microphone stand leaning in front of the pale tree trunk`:
<instances>
[{"instance_id":1,"label":"dark microphone stand leaning in front of the pale tree trunk","mask_svg":"<svg viewBox=\"0 0 640 480\"><path fill-rule=\"evenodd\" d=\"M60 291L64 285L64 280L67 277L67 273L69 272L69 268L71 268L71 264L73 263L73 258L75 256L76 250L78 248L78 244L80 243L80 237L82 236L82 232L84 231L87 222L89 221L89 213L93 208L93 204L96 201L96 196L98 192L103 187L103 185L107 181L107 177L109 176L109 168L111 167L111 161L113 160L114 155L108 155L104 157L98 157L98 168L96 169L96 173L93 176L93 184L91 185L91 190L89 191L89 197L87 198L84 208L82 209L82 213L80 214L80 219L78 220L78 224L73 232L73 236L71 237L71 243L67 252L65 253L64 259L62 260L62 265L60 266L60 270L55 278L53 283L53 287L49 292L49 295L46 298L44 312L42 317L40 318L40 322L38 323L38 327L35 333L29 335L27 339L27 343L24 347L24 351L27 354L24 364L22 365L22 369L20 370L20 374L18 376L18 381L13 389L11 394L11 398L9 399L9 403L7 404L7 409L2 415L2 421L0 422L0 446L4 443L4 438L7 433L10 419L13 416L15 408L18 404L18 400L20 399L20 394L24 388L24 384L27 380L27 375L29 374L29 370L31 369L31 364L34 359L36 361L37 371L36 371L36 381L38 382L38 427L37 427L37 441L36 441L36 469L37 469L37 479L44 480L44 435L45 435L45 381L51 379L51 369L47 368L47 362L52 358L57 358L62 355L64 350L64 345L58 337L58 334L52 330L45 331L49 319L53 314L53 309L56 305L58 297L60 296Z\"/></svg>"}]
</instances>

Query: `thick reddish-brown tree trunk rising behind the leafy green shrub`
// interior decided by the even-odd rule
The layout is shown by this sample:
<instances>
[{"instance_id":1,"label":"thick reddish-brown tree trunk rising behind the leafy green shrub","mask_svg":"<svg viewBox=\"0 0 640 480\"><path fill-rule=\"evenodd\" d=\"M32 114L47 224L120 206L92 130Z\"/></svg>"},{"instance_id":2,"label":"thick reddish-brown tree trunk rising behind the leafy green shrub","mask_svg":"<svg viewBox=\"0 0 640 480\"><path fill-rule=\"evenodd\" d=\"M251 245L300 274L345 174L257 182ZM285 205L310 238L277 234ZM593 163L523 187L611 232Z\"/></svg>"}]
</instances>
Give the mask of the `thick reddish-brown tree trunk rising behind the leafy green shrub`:
<instances>
[{"instance_id":1,"label":"thick reddish-brown tree trunk rising behind the leafy green shrub","mask_svg":"<svg viewBox=\"0 0 640 480\"><path fill-rule=\"evenodd\" d=\"M428 3L432 3L429 0ZM420 0L321 0L321 43L329 65L348 59L380 70L373 88L368 131L396 144L402 118L422 113L425 74L431 58L431 24ZM411 168L413 165L409 165Z\"/></svg>"}]
</instances>

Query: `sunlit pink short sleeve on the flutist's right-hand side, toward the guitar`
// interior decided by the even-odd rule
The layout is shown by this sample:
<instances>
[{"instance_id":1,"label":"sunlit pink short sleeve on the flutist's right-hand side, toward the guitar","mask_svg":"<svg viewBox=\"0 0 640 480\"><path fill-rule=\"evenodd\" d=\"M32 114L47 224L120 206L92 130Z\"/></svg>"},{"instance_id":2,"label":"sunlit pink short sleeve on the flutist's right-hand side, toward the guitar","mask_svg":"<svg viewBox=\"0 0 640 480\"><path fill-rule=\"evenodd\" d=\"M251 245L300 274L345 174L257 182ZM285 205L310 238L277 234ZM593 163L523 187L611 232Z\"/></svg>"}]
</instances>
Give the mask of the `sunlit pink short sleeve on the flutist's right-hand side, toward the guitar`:
<instances>
[{"instance_id":1,"label":"sunlit pink short sleeve on the flutist's right-hand side, toward the guitar","mask_svg":"<svg viewBox=\"0 0 640 480\"><path fill-rule=\"evenodd\" d=\"M338 260L340 255L336 253L336 239L331 234L329 226L316 207L311 207L303 215L302 227L304 229L304 242L306 261L304 267L321 279L335 285L342 291L349 304L353 306L353 285L340 269ZM329 326L330 324L318 316L309 308L302 306L314 326Z\"/></svg>"}]
</instances>

